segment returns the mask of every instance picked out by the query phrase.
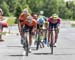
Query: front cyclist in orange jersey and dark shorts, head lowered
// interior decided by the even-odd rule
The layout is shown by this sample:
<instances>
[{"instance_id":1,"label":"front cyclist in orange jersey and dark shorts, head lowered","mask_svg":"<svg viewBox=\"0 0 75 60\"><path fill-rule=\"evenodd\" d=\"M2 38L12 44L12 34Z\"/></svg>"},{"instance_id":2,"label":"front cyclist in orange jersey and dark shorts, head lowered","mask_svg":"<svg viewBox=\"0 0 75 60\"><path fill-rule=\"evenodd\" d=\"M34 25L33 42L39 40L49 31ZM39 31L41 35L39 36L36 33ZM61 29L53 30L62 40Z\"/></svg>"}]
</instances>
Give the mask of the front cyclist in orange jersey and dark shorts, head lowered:
<instances>
[{"instance_id":1,"label":"front cyclist in orange jersey and dark shorts, head lowered","mask_svg":"<svg viewBox=\"0 0 75 60\"><path fill-rule=\"evenodd\" d=\"M29 30L29 52L31 52L32 34L35 32L37 28L37 22L32 18L32 16L27 16L26 20L24 20L22 24L22 37L24 37L25 31Z\"/></svg>"}]
</instances>

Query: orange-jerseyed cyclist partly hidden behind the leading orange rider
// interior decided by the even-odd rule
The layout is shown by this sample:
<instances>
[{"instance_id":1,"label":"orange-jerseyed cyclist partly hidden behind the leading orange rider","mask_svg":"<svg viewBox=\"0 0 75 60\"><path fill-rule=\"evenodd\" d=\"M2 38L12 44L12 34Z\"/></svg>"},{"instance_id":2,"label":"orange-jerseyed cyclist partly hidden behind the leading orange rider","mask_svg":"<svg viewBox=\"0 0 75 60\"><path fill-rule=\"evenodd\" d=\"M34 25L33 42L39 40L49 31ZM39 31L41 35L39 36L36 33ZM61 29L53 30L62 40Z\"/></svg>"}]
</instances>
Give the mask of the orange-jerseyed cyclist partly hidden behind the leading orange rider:
<instances>
[{"instance_id":1,"label":"orange-jerseyed cyclist partly hidden behind the leading orange rider","mask_svg":"<svg viewBox=\"0 0 75 60\"><path fill-rule=\"evenodd\" d=\"M19 27L19 32L21 35L21 44L23 43L23 32L22 32L22 28L23 28L23 22L26 20L27 16L30 16L28 9L25 8L22 13L19 16L19 20L18 20L18 27Z\"/></svg>"}]
</instances>

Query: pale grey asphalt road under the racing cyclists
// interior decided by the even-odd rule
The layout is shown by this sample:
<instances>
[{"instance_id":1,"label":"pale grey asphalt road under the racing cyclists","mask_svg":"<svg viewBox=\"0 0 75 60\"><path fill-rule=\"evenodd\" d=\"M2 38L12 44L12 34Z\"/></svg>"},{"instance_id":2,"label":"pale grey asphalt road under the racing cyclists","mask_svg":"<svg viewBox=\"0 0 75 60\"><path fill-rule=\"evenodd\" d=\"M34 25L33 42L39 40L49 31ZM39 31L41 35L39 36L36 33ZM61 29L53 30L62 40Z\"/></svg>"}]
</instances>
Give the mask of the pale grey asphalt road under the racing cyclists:
<instances>
[{"instance_id":1,"label":"pale grey asphalt road under the racing cyclists","mask_svg":"<svg viewBox=\"0 0 75 60\"><path fill-rule=\"evenodd\" d=\"M0 60L75 60L75 28L65 27L60 29L57 47L51 55L50 48L35 50L32 45L32 53L28 57L23 56L23 48L20 44L20 36L10 34L3 36L4 42L0 42Z\"/></svg>"}]
</instances>

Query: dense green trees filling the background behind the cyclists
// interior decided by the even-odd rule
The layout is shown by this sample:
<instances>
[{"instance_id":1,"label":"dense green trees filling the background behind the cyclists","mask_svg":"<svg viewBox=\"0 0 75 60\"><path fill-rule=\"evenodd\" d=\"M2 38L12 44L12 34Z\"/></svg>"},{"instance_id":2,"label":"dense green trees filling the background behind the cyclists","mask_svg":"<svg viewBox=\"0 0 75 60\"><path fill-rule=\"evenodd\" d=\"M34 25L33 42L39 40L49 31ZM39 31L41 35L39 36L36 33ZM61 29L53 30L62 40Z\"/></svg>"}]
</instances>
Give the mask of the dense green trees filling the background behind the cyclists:
<instances>
[{"instance_id":1,"label":"dense green trees filling the background behind the cyclists","mask_svg":"<svg viewBox=\"0 0 75 60\"><path fill-rule=\"evenodd\" d=\"M17 19L24 8L28 8L30 13L35 12L38 14L42 10L47 17L57 13L61 18L75 19L75 1L0 0L0 7L3 9L5 16L15 16Z\"/></svg>"}]
</instances>

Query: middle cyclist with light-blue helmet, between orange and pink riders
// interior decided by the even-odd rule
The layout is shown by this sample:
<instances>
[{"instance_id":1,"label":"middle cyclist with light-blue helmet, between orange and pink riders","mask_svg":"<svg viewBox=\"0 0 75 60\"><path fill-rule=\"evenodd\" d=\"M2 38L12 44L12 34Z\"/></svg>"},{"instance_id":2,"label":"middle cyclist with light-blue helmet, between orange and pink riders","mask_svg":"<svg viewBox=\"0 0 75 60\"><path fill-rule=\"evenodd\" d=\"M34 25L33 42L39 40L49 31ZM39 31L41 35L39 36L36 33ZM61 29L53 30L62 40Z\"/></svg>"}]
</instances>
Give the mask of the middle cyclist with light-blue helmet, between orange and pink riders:
<instances>
[{"instance_id":1,"label":"middle cyclist with light-blue helmet, between orange and pink riders","mask_svg":"<svg viewBox=\"0 0 75 60\"><path fill-rule=\"evenodd\" d=\"M43 40L44 40L44 33L43 33L44 24L45 24L44 17L39 15L37 18L37 33L41 30L41 41L40 41L41 44L43 43ZM36 37L37 37L37 34L36 34ZM35 41L35 43L37 43L37 40ZM40 44L40 47L42 47L41 44Z\"/></svg>"}]
</instances>

